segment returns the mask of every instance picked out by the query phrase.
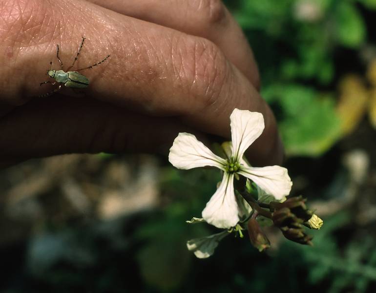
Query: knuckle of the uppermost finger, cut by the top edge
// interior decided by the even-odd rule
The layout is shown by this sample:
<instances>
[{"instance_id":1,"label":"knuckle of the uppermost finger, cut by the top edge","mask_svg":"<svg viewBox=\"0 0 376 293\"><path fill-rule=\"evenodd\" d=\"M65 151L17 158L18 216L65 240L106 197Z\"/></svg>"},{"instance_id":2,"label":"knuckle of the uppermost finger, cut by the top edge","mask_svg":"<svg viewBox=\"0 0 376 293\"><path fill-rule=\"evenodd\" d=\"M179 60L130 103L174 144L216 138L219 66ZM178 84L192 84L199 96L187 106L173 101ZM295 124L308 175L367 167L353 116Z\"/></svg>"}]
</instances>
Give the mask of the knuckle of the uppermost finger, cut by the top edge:
<instances>
[{"instance_id":1,"label":"knuckle of the uppermost finger, cut by the top edge","mask_svg":"<svg viewBox=\"0 0 376 293\"><path fill-rule=\"evenodd\" d=\"M191 1L190 5L202 26L221 23L226 17L225 6L221 0L197 0Z\"/></svg>"}]
</instances>

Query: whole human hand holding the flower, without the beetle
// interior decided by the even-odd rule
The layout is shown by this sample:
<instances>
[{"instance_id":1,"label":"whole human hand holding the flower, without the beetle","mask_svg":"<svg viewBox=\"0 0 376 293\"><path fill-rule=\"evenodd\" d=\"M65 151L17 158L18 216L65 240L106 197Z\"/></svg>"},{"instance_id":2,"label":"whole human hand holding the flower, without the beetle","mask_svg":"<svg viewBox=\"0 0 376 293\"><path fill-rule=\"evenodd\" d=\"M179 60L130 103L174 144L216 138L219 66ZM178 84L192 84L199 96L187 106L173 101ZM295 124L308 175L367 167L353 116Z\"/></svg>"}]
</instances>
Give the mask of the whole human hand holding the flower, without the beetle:
<instances>
[{"instance_id":1,"label":"whole human hand holding the flower, without the beetle","mask_svg":"<svg viewBox=\"0 0 376 293\"><path fill-rule=\"evenodd\" d=\"M94 4L95 3L95 4ZM104 8L106 7L106 8ZM261 112L254 165L280 164L282 146L258 94L251 48L219 0L0 0L0 166L32 157L166 151L178 132L230 138L237 107ZM39 84L49 62L85 70L84 97Z\"/></svg>"}]
</instances>

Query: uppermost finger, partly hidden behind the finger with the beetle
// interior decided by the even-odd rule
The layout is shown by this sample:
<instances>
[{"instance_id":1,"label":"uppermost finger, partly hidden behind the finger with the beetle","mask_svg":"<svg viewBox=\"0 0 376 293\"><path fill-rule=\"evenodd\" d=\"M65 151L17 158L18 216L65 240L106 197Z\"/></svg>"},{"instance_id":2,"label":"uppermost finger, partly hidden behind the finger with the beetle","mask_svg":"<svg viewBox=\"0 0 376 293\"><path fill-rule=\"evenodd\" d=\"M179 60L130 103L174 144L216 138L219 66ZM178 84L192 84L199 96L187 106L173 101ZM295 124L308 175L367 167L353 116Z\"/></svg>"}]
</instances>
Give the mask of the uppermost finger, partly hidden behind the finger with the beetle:
<instances>
[{"instance_id":1,"label":"uppermost finger, partly hidden behind the finger with the beetle","mask_svg":"<svg viewBox=\"0 0 376 293\"><path fill-rule=\"evenodd\" d=\"M164 25L214 42L259 89L253 52L221 0L89 0L127 16Z\"/></svg>"}]
</instances>

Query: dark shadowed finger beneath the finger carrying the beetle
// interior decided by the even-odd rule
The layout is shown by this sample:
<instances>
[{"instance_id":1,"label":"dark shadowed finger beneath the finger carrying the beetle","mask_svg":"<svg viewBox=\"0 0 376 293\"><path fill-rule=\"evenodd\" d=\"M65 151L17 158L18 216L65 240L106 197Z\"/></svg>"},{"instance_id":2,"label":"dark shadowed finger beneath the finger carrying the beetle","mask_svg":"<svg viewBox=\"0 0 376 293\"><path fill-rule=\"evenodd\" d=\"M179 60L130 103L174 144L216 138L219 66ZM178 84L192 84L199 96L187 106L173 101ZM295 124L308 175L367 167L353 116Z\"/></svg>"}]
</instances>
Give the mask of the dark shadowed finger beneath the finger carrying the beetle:
<instances>
[{"instance_id":1,"label":"dark shadowed finger beneath the finger carrying the beetle","mask_svg":"<svg viewBox=\"0 0 376 293\"><path fill-rule=\"evenodd\" d=\"M105 102L59 95L31 101L0 119L0 162L135 149L167 154L181 130L192 131L174 118L149 117Z\"/></svg>"}]
</instances>

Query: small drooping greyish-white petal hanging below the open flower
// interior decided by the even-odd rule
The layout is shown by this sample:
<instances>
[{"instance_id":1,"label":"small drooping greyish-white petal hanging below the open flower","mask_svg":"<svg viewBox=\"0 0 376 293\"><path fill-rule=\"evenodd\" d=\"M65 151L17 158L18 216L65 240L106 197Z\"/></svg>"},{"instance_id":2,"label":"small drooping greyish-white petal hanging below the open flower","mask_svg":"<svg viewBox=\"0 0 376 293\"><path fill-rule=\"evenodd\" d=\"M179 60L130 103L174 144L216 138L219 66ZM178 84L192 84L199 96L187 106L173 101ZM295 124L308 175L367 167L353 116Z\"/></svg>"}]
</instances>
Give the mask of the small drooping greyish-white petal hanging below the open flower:
<instances>
[{"instance_id":1,"label":"small drooping greyish-white petal hanging below the open flower","mask_svg":"<svg viewBox=\"0 0 376 293\"><path fill-rule=\"evenodd\" d=\"M207 237L191 239L187 242L187 248L189 251L193 251L198 258L207 258L214 253L219 241L229 234L228 231L223 231Z\"/></svg>"}]
</instances>

